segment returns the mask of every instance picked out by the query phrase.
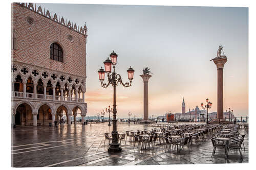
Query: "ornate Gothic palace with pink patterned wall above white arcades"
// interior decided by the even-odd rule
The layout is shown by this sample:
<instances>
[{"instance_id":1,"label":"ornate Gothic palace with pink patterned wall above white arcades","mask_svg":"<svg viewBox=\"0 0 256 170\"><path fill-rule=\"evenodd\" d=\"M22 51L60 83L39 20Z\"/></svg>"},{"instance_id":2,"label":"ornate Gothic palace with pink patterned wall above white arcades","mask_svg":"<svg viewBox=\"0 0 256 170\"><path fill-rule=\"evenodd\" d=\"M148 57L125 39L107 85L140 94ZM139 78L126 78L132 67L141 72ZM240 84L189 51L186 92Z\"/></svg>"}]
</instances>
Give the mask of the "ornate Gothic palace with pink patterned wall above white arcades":
<instances>
[{"instance_id":1,"label":"ornate Gothic palace with pink patterned wall above white arcades","mask_svg":"<svg viewBox=\"0 0 256 170\"><path fill-rule=\"evenodd\" d=\"M12 124L49 125L87 113L87 27L33 3L12 4ZM78 111L79 110L79 111Z\"/></svg>"}]
</instances>

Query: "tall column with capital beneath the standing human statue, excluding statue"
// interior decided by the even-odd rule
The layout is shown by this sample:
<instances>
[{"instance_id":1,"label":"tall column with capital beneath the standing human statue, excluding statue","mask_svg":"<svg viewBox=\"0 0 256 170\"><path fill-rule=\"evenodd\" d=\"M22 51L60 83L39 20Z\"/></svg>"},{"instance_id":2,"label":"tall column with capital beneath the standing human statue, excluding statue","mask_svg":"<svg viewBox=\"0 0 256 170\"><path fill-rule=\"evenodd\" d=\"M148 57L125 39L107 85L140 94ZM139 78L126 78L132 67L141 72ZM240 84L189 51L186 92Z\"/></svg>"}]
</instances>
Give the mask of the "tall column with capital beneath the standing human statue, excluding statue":
<instances>
[{"instance_id":1,"label":"tall column with capital beneath the standing human statue, excluding statue","mask_svg":"<svg viewBox=\"0 0 256 170\"><path fill-rule=\"evenodd\" d=\"M226 56L220 56L212 59L217 66L218 87L217 87L217 118L223 119L223 68L227 62Z\"/></svg>"}]
</instances>

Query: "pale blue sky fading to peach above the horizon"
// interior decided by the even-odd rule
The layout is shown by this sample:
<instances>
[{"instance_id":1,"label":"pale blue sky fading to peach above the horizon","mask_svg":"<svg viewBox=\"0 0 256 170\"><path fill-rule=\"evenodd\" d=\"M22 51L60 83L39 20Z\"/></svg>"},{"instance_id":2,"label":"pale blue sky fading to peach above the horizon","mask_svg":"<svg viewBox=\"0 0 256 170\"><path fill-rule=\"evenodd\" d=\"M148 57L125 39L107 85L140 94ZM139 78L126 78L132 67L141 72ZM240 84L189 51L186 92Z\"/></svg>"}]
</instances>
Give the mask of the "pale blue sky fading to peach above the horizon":
<instances>
[{"instance_id":1,"label":"pale blue sky fading to peach above the horizon","mask_svg":"<svg viewBox=\"0 0 256 170\"><path fill-rule=\"evenodd\" d=\"M38 4L39 5L39 4ZM181 113L208 98L209 112L217 111L217 69L210 59L223 45L224 111L248 115L248 8L40 4L57 15L88 27L87 92L89 116L113 105L113 88L102 88L98 69L115 50L116 71L127 80L135 69L132 87L117 86L117 117L143 114L143 81L149 67L149 115ZM132 115L132 117L133 117Z\"/></svg>"}]
</instances>

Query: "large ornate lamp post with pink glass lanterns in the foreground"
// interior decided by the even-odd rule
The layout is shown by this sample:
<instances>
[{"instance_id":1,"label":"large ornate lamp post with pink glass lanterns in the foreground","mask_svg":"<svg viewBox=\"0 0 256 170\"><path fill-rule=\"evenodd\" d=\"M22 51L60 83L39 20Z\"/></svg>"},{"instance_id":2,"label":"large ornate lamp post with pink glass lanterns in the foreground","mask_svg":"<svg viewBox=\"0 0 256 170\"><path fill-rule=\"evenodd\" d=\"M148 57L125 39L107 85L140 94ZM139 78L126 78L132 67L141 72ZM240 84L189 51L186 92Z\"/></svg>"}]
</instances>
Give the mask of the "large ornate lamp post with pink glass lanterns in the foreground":
<instances>
[{"instance_id":1,"label":"large ornate lamp post with pink glass lanterns in the foreground","mask_svg":"<svg viewBox=\"0 0 256 170\"><path fill-rule=\"evenodd\" d=\"M132 80L134 76L134 69L130 67L127 69L127 74L128 74L128 79L130 82L126 82L123 84L121 76L119 74L116 74L115 72L115 65L116 65L116 59L117 59L117 54L113 51L113 53L110 54L111 60L108 58L106 59L104 63L105 70L102 69L102 67L98 70L99 74L99 80L101 83L101 87L106 88L110 84L113 86L113 131L112 131L112 141L110 144L110 147L108 149L109 152L119 152L122 151L120 144L118 143L118 132L117 132L117 119L116 119L116 86L120 83L120 85L124 87L129 87L132 85ZM111 71L111 68L113 66L113 72ZM104 77L105 77L105 72L108 76L108 83L103 83ZM111 73L112 72L112 73Z\"/></svg>"}]
</instances>

